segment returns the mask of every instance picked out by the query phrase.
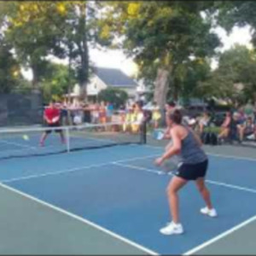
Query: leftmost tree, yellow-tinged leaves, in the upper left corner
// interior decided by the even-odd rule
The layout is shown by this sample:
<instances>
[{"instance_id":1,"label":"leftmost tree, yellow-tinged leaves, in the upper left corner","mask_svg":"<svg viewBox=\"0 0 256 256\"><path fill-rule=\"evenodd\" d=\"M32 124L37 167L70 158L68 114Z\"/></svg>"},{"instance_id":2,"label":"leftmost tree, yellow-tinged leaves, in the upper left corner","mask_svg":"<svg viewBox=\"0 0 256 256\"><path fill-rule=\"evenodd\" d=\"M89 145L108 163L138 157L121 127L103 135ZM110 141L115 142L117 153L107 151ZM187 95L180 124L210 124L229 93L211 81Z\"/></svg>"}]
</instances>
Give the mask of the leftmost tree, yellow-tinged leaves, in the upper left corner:
<instances>
[{"instance_id":1,"label":"leftmost tree, yellow-tinged leaves, in the upper left corner","mask_svg":"<svg viewBox=\"0 0 256 256\"><path fill-rule=\"evenodd\" d=\"M42 78L50 53L60 51L60 32L49 19L53 15L61 24L61 15L55 15L56 3L34 1L1 3L4 5L4 38L15 49L15 56L21 65L32 68L32 85L37 87Z\"/></svg>"}]
</instances>

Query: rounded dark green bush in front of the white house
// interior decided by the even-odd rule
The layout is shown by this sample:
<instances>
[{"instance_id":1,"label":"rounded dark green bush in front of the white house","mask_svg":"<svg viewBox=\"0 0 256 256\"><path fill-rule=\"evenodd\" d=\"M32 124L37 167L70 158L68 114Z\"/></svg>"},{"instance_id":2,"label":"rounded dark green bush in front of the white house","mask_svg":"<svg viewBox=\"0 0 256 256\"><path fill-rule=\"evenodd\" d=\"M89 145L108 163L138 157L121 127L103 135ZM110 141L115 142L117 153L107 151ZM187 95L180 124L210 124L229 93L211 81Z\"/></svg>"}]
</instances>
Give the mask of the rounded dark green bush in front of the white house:
<instances>
[{"instance_id":1,"label":"rounded dark green bush in front of the white house","mask_svg":"<svg viewBox=\"0 0 256 256\"><path fill-rule=\"evenodd\" d=\"M128 94L125 90L107 88L100 91L98 100L100 102L112 102L115 108L119 108L121 105L125 105L128 100Z\"/></svg>"}]
</instances>

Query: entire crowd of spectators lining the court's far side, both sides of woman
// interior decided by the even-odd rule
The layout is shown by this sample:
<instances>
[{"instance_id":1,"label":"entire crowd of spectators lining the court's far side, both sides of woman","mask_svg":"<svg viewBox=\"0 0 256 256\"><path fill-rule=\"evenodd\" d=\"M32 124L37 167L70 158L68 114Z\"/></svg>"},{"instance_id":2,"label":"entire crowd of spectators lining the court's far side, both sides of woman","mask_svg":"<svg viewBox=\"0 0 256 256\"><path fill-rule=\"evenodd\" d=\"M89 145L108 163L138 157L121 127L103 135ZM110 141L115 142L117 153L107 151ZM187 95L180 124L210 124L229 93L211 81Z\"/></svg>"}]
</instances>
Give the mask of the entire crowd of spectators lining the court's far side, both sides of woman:
<instances>
[{"instance_id":1,"label":"entire crowd of spectators lining the court's far side, both sides of woman","mask_svg":"<svg viewBox=\"0 0 256 256\"><path fill-rule=\"evenodd\" d=\"M175 103L168 102L166 106L168 105L174 107ZM127 102L119 108L114 108L112 102L61 102L57 106L61 109L61 125L122 123L123 131L137 132L139 124L145 118L145 110L150 113L148 124L151 129L158 129L165 123L165 112L155 102ZM230 139L240 143L244 140L256 140L256 103L253 105L252 102L247 102L244 106L227 111L221 124L214 121L215 114L214 111L202 111L196 116L188 113L184 115L183 122L201 136L208 131L208 127L216 127L218 143Z\"/></svg>"}]
</instances>

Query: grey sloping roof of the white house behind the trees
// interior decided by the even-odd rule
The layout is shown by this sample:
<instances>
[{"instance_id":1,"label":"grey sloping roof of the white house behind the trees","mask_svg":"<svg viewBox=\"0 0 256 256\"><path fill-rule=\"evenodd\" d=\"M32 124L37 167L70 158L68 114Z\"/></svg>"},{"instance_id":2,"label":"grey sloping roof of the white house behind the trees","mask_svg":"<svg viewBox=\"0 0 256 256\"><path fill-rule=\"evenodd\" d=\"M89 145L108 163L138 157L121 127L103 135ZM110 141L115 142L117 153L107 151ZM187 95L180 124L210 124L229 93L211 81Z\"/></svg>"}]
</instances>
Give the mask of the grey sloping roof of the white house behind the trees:
<instances>
[{"instance_id":1,"label":"grey sloping roof of the white house behind the trees","mask_svg":"<svg viewBox=\"0 0 256 256\"><path fill-rule=\"evenodd\" d=\"M133 81L133 79L129 78L119 69L96 67L95 73L105 84L109 86L134 88L138 85L135 81Z\"/></svg>"}]
</instances>

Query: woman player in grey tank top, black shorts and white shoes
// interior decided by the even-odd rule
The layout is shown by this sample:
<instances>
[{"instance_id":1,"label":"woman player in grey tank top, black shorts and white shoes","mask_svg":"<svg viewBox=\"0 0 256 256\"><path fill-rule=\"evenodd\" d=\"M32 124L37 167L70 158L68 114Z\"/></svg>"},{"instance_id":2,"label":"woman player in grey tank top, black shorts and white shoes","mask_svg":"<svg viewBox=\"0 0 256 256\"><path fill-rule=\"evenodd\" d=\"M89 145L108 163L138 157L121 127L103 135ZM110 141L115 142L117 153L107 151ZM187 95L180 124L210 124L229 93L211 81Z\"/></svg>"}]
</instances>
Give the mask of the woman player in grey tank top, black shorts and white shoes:
<instances>
[{"instance_id":1,"label":"woman player in grey tank top, black shorts and white shoes","mask_svg":"<svg viewBox=\"0 0 256 256\"><path fill-rule=\"evenodd\" d=\"M165 160L177 154L181 158L175 176L167 188L168 201L172 213L172 222L162 228L160 232L164 235L182 234L183 226L178 217L178 196L177 191L181 189L189 180L194 180L197 189L201 193L207 207L201 209L201 213L210 217L216 217L217 212L212 208L210 193L205 184L208 160L207 155L201 149L201 140L194 131L181 125L182 114L175 109L167 113L167 125L170 125L170 135L172 144L166 147L166 152L155 160L155 164L161 166Z\"/></svg>"}]
</instances>

